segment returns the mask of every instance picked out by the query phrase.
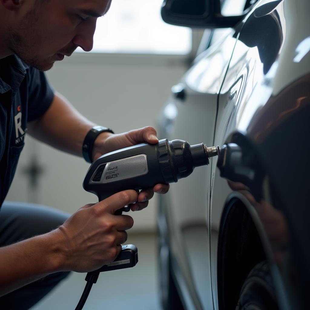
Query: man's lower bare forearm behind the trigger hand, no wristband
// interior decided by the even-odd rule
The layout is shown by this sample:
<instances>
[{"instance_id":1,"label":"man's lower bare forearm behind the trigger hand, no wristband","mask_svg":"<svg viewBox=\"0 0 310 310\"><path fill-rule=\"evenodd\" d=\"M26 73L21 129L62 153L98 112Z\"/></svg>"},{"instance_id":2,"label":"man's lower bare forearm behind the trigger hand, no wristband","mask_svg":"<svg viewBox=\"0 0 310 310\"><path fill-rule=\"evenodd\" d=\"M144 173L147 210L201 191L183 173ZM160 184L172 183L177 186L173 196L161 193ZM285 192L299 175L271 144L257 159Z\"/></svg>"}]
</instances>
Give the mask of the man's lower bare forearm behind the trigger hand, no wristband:
<instances>
[{"instance_id":1,"label":"man's lower bare forearm behind the trigger hand, no wristband","mask_svg":"<svg viewBox=\"0 0 310 310\"><path fill-rule=\"evenodd\" d=\"M0 248L0 296L62 271L64 241L56 231Z\"/></svg>"}]
</instances>

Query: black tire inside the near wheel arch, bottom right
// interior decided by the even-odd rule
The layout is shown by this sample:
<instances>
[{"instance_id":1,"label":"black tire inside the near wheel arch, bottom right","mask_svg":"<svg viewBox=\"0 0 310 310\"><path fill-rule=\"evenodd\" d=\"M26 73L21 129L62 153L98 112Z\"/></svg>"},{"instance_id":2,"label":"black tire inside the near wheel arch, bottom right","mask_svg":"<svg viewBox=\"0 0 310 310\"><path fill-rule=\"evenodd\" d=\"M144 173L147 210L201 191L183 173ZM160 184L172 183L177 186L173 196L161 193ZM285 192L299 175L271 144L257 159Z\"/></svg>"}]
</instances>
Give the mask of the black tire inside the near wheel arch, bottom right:
<instances>
[{"instance_id":1,"label":"black tire inside the near wheel arch, bottom right","mask_svg":"<svg viewBox=\"0 0 310 310\"><path fill-rule=\"evenodd\" d=\"M278 310L270 263L258 263L241 288L236 310Z\"/></svg>"}]
</instances>

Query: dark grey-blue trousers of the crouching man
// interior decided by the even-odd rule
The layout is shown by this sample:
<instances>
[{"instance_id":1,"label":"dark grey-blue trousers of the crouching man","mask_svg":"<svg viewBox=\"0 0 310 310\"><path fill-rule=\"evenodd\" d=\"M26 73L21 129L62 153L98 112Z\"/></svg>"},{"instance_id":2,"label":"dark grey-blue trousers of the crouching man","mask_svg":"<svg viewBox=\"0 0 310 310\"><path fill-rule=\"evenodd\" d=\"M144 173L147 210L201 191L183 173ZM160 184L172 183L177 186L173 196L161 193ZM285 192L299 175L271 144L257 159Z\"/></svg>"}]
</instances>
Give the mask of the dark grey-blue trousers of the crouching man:
<instances>
[{"instance_id":1,"label":"dark grey-blue trousers of the crouching man","mask_svg":"<svg viewBox=\"0 0 310 310\"><path fill-rule=\"evenodd\" d=\"M45 206L5 201L0 208L0 247L49 232L68 217L69 214ZM69 272L50 274L0 297L0 309L31 308L68 274Z\"/></svg>"}]
</instances>

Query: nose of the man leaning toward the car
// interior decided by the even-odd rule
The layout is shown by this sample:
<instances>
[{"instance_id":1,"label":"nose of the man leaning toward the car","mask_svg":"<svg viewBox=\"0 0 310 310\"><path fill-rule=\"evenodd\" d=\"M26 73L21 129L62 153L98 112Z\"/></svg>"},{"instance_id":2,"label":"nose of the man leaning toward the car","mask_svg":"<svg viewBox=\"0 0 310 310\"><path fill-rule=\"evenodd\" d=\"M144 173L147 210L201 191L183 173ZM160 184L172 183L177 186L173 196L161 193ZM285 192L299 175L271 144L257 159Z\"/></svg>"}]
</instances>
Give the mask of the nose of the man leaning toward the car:
<instances>
[{"instance_id":1,"label":"nose of the man leaning toward the car","mask_svg":"<svg viewBox=\"0 0 310 310\"><path fill-rule=\"evenodd\" d=\"M94 44L95 29L96 19L90 19L84 23L81 23L77 28L77 33L73 37L72 42L86 52L91 51Z\"/></svg>"}]
</instances>

